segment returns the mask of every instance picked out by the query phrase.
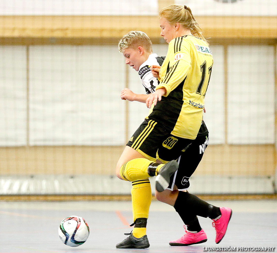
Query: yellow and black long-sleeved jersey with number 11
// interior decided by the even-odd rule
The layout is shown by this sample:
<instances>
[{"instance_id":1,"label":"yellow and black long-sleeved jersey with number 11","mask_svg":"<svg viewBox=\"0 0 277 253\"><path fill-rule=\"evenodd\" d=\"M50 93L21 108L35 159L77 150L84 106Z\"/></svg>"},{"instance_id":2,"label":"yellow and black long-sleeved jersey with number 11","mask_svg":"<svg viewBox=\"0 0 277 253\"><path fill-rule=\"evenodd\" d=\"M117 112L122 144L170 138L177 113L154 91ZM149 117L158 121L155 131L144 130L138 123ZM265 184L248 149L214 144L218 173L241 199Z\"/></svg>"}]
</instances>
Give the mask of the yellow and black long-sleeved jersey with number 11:
<instances>
[{"instance_id":1,"label":"yellow and black long-sleeved jersey with number 11","mask_svg":"<svg viewBox=\"0 0 277 253\"><path fill-rule=\"evenodd\" d=\"M165 88L166 95L152 105L148 118L164 124L175 136L195 139L212 65L212 53L204 40L192 35L171 40L156 88Z\"/></svg>"}]
</instances>

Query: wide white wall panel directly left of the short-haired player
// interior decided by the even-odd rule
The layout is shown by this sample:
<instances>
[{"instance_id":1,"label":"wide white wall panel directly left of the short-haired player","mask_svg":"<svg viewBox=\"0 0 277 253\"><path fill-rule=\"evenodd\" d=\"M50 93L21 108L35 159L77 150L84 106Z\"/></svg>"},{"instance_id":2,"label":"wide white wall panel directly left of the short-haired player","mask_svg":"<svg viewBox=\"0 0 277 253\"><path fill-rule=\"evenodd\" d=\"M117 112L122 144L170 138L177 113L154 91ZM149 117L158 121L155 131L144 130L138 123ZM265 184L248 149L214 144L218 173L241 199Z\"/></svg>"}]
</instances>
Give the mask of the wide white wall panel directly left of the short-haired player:
<instances>
[{"instance_id":1,"label":"wide white wall panel directly left of the short-haired player","mask_svg":"<svg viewBox=\"0 0 277 253\"><path fill-rule=\"evenodd\" d=\"M30 144L122 145L117 46L30 47Z\"/></svg>"}]
</instances>

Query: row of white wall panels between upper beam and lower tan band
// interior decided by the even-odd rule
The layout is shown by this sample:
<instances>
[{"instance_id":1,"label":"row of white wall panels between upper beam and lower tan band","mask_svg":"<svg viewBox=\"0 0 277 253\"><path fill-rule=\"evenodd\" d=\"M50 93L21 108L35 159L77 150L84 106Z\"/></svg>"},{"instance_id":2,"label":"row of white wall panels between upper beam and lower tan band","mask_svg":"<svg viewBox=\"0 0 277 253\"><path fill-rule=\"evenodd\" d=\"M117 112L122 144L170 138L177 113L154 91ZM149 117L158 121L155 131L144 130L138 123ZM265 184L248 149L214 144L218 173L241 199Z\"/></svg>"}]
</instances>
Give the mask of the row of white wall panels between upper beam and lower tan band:
<instances>
[{"instance_id":1,"label":"row of white wall panels between upper beam and lower tan band","mask_svg":"<svg viewBox=\"0 0 277 253\"><path fill-rule=\"evenodd\" d=\"M225 141L224 54L211 46L214 66L205 98L210 144ZM165 55L167 44L153 45ZM274 143L273 46L228 47L227 141ZM27 144L26 48L0 47L0 146ZM30 46L29 144L123 145L125 103L132 136L148 114L145 104L120 99L125 59L117 46ZM129 88L145 93L129 68Z\"/></svg>"}]
</instances>

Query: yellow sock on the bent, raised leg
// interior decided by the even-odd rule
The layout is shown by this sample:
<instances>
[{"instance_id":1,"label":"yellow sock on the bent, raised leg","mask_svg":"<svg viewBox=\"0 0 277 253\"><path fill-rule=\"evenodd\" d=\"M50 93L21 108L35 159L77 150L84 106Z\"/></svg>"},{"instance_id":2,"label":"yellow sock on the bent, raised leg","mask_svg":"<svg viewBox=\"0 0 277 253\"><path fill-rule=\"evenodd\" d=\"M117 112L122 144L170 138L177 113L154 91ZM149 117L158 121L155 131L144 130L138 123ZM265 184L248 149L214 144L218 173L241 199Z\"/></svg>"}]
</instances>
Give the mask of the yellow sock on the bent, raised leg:
<instances>
[{"instance_id":1,"label":"yellow sock on the bent, raised leg","mask_svg":"<svg viewBox=\"0 0 277 253\"><path fill-rule=\"evenodd\" d=\"M135 180L142 180L144 178L149 177L148 174L148 166L153 162L146 159L146 158L135 158L126 162L120 168L120 176L125 181L135 181ZM157 172L164 164L160 164L156 168L156 176Z\"/></svg>"}]
</instances>

